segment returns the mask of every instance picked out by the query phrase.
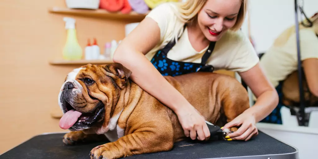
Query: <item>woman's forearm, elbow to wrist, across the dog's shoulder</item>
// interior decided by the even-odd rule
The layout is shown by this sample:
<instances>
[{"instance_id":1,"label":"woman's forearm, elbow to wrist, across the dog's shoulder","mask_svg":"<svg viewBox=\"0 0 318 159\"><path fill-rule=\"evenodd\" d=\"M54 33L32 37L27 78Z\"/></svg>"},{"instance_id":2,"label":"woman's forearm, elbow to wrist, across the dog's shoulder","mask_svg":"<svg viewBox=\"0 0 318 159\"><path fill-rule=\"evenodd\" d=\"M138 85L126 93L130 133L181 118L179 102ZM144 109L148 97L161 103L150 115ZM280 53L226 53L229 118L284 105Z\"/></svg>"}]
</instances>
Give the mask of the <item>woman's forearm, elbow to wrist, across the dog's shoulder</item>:
<instances>
[{"instance_id":1,"label":"woman's forearm, elbow to wrist, across the dog's shoulder","mask_svg":"<svg viewBox=\"0 0 318 159\"><path fill-rule=\"evenodd\" d=\"M123 51L121 58L114 62L127 67L132 72L130 79L174 112L182 110L180 106L191 106L142 53L129 52L129 55L125 55Z\"/></svg>"}]
</instances>

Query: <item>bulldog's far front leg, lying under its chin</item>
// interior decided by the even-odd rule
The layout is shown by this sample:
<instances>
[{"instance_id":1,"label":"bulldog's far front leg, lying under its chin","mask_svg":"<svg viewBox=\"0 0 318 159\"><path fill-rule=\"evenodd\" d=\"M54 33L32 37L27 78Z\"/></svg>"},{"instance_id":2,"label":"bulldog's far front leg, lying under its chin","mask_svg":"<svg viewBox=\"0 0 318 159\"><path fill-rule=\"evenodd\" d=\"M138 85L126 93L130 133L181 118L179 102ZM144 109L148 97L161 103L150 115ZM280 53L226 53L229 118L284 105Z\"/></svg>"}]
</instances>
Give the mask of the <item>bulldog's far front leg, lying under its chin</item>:
<instances>
[{"instance_id":1,"label":"bulldog's far front leg, lying under its chin","mask_svg":"<svg viewBox=\"0 0 318 159\"><path fill-rule=\"evenodd\" d=\"M63 136L63 142L66 145L85 144L91 142L109 142L104 134L84 134L83 131L72 131Z\"/></svg>"}]
</instances>

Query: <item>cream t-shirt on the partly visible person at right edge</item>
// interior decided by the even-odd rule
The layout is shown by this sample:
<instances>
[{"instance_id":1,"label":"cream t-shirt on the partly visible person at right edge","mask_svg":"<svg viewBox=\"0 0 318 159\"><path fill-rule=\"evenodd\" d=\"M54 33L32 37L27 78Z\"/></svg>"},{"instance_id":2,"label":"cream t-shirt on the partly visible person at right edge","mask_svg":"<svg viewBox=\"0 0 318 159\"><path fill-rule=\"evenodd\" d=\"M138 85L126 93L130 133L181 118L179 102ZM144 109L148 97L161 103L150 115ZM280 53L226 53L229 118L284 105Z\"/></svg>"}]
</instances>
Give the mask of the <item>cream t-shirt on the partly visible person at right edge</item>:
<instances>
[{"instance_id":1,"label":"cream t-shirt on the partly visible person at right edge","mask_svg":"<svg viewBox=\"0 0 318 159\"><path fill-rule=\"evenodd\" d=\"M316 24L317 25L317 24ZM315 26L317 27L317 26ZM318 58L318 37L313 28L299 31L301 61ZM294 27L286 29L260 59L267 78L274 87L298 69L297 43ZM317 68L313 68L317 69Z\"/></svg>"}]
</instances>

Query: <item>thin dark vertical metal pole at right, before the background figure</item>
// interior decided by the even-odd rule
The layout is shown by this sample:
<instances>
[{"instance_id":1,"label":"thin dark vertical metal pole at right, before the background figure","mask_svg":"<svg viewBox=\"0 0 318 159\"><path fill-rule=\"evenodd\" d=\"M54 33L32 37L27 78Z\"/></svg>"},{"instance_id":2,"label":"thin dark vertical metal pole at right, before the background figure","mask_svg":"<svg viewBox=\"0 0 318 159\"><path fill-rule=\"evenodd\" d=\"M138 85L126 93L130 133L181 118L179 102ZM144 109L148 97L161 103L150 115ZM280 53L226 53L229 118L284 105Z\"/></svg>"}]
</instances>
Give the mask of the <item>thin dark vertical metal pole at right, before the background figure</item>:
<instances>
[{"instance_id":1,"label":"thin dark vertical metal pole at right, before the background figure","mask_svg":"<svg viewBox=\"0 0 318 159\"><path fill-rule=\"evenodd\" d=\"M298 81L299 81L299 95L300 95L300 126L305 125L305 103L304 91L302 88L302 67L299 44L299 22L298 22L298 3L295 0L295 26L296 26L296 42L297 42L297 58L298 58Z\"/></svg>"}]
</instances>

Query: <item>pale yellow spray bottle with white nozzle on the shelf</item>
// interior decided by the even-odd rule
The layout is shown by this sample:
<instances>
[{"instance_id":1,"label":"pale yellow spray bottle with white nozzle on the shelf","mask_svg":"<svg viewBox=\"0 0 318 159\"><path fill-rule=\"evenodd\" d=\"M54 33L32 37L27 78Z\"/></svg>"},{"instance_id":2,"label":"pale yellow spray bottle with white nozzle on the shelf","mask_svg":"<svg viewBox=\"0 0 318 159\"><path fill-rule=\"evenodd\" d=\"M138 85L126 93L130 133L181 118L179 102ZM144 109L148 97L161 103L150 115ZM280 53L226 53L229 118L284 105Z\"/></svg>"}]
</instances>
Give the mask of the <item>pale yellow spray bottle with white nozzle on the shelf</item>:
<instances>
[{"instance_id":1,"label":"pale yellow spray bottle with white nozzle on the shelf","mask_svg":"<svg viewBox=\"0 0 318 159\"><path fill-rule=\"evenodd\" d=\"M66 60L79 60L82 59L82 48L80 47L75 29L75 19L64 17L66 22L65 29L67 29L66 44L63 48L63 59Z\"/></svg>"}]
</instances>

